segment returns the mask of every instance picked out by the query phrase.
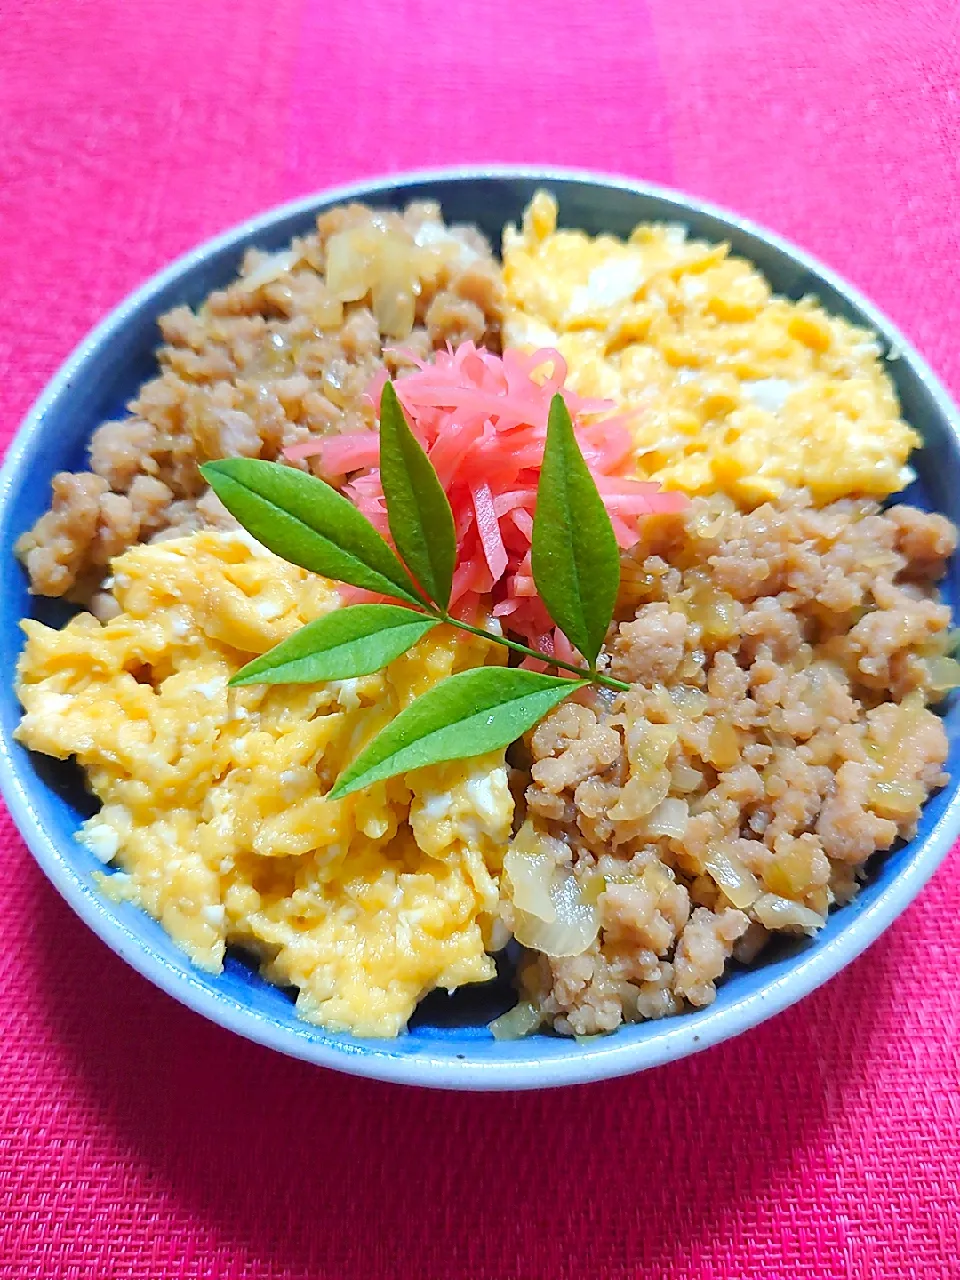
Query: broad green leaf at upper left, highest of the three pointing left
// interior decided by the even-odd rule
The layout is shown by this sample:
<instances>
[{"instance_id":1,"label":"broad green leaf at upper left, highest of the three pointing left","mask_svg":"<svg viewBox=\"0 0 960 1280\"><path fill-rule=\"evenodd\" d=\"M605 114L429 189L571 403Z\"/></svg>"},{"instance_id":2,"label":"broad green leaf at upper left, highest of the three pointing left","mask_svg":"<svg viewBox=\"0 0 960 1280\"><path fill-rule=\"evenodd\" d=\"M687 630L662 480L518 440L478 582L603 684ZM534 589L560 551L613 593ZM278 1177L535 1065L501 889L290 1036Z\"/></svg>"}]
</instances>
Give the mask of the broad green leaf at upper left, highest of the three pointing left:
<instances>
[{"instance_id":1,"label":"broad green leaf at upper left, highest of the three pointing left","mask_svg":"<svg viewBox=\"0 0 960 1280\"><path fill-rule=\"evenodd\" d=\"M339 582L421 603L392 548L329 484L259 458L224 458L200 470L230 515L275 556Z\"/></svg>"}]
</instances>

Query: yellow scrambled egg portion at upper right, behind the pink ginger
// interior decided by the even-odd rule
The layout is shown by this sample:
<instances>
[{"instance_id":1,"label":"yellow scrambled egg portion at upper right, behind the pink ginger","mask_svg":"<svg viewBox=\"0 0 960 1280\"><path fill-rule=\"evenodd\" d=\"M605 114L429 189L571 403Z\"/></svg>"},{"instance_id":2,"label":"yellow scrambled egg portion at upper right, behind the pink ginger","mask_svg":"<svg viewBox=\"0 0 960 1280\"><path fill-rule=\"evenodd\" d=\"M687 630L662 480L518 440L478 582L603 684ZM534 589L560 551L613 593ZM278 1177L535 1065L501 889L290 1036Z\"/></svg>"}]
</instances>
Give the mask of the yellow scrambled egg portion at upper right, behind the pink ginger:
<instances>
[{"instance_id":1,"label":"yellow scrambled egg portion at upper right, behind the pink ginger","mask_svg":"<svg viewBox=\"0 0 960 1280\"><path fill-rule=\"evenodd\" d=\"M681 227L628 241L557 230L539 192L503 237L504 346L556 347L568 385L630 412L637 470L755 506L805 485L817 502L886 497L910 479L874 337Z\"/></svg>"}]
</instances>

